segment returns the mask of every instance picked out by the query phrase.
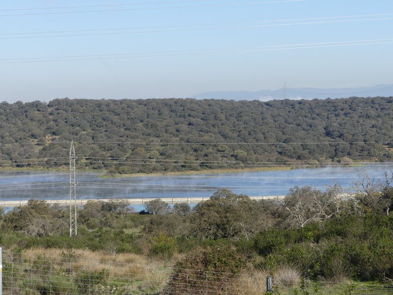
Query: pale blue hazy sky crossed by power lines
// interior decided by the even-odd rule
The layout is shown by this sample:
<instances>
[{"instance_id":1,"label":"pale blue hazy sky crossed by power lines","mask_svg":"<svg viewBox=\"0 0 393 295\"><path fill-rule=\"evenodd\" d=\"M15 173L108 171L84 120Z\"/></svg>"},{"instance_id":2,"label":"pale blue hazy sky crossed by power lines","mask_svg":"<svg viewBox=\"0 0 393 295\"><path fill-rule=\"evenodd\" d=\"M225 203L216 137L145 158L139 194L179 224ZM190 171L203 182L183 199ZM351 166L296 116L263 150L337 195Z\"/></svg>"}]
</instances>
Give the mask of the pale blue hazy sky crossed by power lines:
<instances>
[{"instance_id":1,"label":"pale blue hazy sky crossed by power lines","mask_svg":"<svg viewBox=\"0 0 393 295\"><path fill-rule=\"evenodd\" d=\"M2 0L0 101L393 80L392 0Z\"/></svg>"}]
</instances>

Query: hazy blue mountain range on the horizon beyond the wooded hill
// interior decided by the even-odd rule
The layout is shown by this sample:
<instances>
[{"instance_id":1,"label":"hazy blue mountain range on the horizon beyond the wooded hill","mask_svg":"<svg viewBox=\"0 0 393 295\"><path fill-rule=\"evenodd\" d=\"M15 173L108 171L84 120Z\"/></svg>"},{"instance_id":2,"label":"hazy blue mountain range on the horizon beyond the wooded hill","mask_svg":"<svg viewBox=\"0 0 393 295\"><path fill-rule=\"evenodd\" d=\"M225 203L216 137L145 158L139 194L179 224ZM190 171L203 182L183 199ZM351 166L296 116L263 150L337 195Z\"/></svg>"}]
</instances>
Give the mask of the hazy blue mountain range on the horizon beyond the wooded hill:
<instances>
[{"instance_id":1,"label":"hazy blue mountain range on the horizon beyond the wooded hill","mask_svg":"<svg viewBox=\"0 0 393 295\"><path fill-rule=\"evenodd\" d=\"M273 99L325 99L343 98L351 96L375 97L393 96L393 84L382 84L372 87L360 88L339 88L339 89L317 89L317 88L287 88L286 94L283 88L277 90L259 91L210 91L195 94L190 98L196 99L227 99L227 100L261 100L269 101Z\"/></svg>"}]
</instances>

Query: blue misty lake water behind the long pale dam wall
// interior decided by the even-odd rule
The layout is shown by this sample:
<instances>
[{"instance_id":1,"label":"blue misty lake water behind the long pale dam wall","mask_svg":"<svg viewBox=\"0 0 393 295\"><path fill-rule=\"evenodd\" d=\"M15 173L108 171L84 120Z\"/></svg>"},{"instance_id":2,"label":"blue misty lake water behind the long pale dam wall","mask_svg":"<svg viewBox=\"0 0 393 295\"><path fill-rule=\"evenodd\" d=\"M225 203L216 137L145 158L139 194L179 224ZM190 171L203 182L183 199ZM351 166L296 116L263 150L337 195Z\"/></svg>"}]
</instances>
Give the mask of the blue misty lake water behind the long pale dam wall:
<instances>
[{"instance_id":1,"label":"blue misty lake water behind the long pale dam wall","mask_svg":"<svg viewBox=\"0 0 393 295\"><path fill-rule=\"evenodd\" d=\"M284 171L203 174L187 176L102 177L77 173L78 199L210 197L220 188L249 196L286 195L294 186L325 190L335 183L350 189L359 173L383 177L393 165L336 166ZM69 174L59 172L1 172L0 199L69 198Z\"/></svg>"}]
</instances>

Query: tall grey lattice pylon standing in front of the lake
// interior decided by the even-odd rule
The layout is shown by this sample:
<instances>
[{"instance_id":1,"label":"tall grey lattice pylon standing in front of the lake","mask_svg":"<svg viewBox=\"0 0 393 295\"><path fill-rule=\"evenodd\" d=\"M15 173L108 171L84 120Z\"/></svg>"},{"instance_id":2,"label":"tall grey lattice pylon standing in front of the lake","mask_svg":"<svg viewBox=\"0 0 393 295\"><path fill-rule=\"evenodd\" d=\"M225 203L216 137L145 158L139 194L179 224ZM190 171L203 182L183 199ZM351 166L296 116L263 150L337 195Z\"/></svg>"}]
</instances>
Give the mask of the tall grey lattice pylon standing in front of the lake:
<instances>
[{"instance_id":1,"label":"tall grey lattice pylon standing in front of the lake","mask_svg":"<svg viewBox=\"0 0 393 295\"><path fill-rule=\"evenodd\" d=\"M75 176L75 149L71 141L70 148L70 236L77 235L77 182Z\"/></svg>"}]
</instances>

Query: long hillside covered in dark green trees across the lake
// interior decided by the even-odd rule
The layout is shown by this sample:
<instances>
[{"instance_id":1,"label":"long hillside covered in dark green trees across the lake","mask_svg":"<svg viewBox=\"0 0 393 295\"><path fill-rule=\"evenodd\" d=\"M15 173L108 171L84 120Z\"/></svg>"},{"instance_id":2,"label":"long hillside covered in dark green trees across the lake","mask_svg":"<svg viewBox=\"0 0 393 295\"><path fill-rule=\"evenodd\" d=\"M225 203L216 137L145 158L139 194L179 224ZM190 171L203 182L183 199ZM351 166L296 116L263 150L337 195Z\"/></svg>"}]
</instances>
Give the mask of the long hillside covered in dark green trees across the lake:
<instances>
[{"instance_id":1,"label":"long hillside covered in dark green trees across the lake","mask_svg":"<svg viewBox=\"0 0 393 295\"><path fill-rule=\"evenodd\" d=\"M119 173L386 161L392 130L393 97L2 102L0 160L67 165L74 140L79 168Z\"/></svg>"}]
</instances>

